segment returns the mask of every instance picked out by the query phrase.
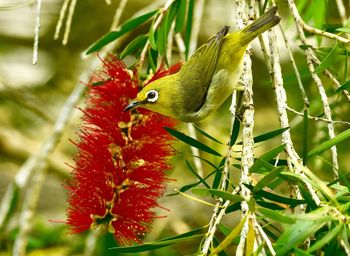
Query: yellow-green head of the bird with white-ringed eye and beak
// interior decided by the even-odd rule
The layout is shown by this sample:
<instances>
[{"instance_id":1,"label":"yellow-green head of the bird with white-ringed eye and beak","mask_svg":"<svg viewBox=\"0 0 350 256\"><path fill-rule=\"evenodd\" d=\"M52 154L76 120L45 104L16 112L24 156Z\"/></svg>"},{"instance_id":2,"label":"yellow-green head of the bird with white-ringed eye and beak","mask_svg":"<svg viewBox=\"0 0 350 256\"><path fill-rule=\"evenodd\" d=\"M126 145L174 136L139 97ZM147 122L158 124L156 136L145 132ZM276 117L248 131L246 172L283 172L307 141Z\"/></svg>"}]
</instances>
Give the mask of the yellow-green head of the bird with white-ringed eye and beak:
<instances>
[{"instance_id":1,"label":"yellow-green head of the bird with white-ringed eye and beak","mask_svg":"<svg viewBox=\"0 0 350 256\"><path fill-rule=\"evenodd\" d=\"M124 109L128 111L136 107L176 117L174 100L177 94L176 80L172 76L162 77L145 86L137 97Z\"/></svg>"}]
</instances>

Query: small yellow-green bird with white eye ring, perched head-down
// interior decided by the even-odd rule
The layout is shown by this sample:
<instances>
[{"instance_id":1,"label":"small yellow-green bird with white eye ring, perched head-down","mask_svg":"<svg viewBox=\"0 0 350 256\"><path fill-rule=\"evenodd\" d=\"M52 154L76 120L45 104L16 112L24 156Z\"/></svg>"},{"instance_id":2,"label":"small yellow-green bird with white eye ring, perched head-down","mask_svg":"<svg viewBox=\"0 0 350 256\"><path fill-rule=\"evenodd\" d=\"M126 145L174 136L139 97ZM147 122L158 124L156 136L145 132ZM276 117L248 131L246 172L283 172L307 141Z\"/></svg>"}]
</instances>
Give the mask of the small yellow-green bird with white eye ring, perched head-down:
<instances>
[{"instance_id":1,"label":"small yellow-green bird with white eye ring, perched head-down","mask_svg":"<svg viewBox=\"0 0 350 256\"><path fill-rule=\"evenodd\" d=\"M207 117L239 88L244 52L255 37L279 23L276 12L275 6L234 33L228 33L229 27L224 26L179 72L145 86L125 111L142 107L184 122Z\"/></svg>"}]
</instances>

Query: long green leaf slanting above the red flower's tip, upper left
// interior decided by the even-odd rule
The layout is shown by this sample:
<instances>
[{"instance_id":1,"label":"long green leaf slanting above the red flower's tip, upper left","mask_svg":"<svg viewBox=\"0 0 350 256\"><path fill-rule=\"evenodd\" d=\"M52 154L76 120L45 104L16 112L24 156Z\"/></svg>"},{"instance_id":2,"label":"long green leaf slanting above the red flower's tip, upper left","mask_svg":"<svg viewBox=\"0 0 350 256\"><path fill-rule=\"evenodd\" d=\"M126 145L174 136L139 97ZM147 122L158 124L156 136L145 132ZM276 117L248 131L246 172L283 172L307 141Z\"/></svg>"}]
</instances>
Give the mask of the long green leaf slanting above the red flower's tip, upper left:
<instances>
[{"instance_id":1,"label":"long green leaf slanting above the red flower's tip, upper left","mask_svg":"<svg viewBox=\"0 0 350 256\"><path fill-rule=\"evenodd\" d=\"M148 12L132 20L126 21L123 25L120 26L120 28L117 31L108 32L106 35L100 38L97 42L91 45L87 49L85 54L88 55L90 53L100 50L103 46L109 44L110 42L118 39L119 37L126 34L127 32L142 25L143 23L148 21L151 17L153 17L156 13L158 13L158 10Z\"/></svg>"}]
</instances>

